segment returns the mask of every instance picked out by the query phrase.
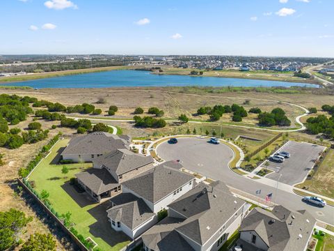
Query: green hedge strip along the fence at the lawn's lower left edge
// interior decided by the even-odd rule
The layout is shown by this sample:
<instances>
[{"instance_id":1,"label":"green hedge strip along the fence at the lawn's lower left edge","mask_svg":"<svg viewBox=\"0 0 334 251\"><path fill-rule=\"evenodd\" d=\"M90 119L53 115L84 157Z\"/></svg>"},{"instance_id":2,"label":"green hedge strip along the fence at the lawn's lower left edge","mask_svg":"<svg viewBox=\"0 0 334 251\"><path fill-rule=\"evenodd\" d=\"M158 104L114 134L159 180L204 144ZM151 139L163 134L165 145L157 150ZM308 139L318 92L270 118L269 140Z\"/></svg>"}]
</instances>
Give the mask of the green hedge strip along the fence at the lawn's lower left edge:
<instances>
[{"instance_id":1,"label":"green hedge strip along the fence at the lawn's lower left edge","mask_svg":"<svg viewBox=\"0 0 334 251\"><path fill-rule=\"evenodd\" d=\"M54 210L51 204L45 203L46 201L43 203L43 201L40 199L40 195L38 195L38 192L36 192L33 188L31 188L31 185L26 180L26 178L23 178L22 180L17 178L17 181L19 185L21 185L22 188L24 188L24 190L26 190L26 192L28 192L33 197L33 199L35 199L35 201L38 202L38 205L40 205L42 209L45 212L47 212L51 216L51 218L58 223L59 226L61 226L61 229L66 234L68 234L68 236L70 236L72 241L74 241L74 243L78 245L80 250L89 251L91 250L91 248L93 248L93 243L86 241L84 239L84 236L78 234L77 230L74 229L74 227L71 227L70 230L64 225L63 220L61 220L61 216L59 215L59 213L57 213ZM97 251L97 248L95 248L94 250Z\"/></svg>"}]
</instances>

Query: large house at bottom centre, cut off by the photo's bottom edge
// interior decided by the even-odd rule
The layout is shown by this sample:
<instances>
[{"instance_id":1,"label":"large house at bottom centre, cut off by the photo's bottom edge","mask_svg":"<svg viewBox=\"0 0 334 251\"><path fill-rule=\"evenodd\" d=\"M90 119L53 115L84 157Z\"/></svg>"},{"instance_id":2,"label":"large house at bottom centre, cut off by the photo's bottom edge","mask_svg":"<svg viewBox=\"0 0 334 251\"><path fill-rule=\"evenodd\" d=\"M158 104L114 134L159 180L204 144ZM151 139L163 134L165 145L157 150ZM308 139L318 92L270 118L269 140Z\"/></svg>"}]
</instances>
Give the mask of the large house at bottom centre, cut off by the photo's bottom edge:
<instances>
[{"instance_id":1,"label":"large house at bottom centre, cut off by the photo's bottom edge","mask_svg":"<svg viewBox=\"0 0 334 251\"><path fill-rule=\"evenodd\" d=\"M219 250L249 207L220 181L200 183L171 203L168 217L141 236L144 250Z\"/></svg>"}]
</instances>

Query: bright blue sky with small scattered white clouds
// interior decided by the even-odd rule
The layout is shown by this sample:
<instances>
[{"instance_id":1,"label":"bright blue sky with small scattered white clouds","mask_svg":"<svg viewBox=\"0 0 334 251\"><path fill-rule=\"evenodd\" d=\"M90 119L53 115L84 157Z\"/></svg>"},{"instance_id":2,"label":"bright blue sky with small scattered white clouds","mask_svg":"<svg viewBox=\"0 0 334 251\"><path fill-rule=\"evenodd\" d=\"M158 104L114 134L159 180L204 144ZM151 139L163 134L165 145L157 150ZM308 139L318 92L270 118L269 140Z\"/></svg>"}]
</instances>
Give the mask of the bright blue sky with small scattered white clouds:
<instances>
[{"instance_id":1,"label":"bright blue sky with small scattered white clouds","mask_svg":"<svg viewBox=\"0 0 334 251\"><path fill-rule=\"evenodd\" d=\"M0 54L334 57L333 0L1 0Z\"/></svg>"}]
</instances>

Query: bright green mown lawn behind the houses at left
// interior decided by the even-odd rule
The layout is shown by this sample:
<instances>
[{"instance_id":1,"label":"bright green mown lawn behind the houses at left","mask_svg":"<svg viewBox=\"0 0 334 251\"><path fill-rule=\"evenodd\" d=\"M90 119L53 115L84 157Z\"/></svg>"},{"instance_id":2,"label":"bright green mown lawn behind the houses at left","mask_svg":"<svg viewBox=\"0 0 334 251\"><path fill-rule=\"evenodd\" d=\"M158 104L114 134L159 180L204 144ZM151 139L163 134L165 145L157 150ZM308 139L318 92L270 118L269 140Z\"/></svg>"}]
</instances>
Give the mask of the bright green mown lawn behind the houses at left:
<instances>
[{"instance_id":1,"label":"bright green mown lawn behind the houses at left","mask_svg":"<svg viewBox=\"0 0 334 251\"><path fill-rule=\"evenodd\" d=\"M65 175L61 173L63 165L56 165L59 154L67 145L69 139L62 139L55 144L47 158L35 168L29 181L35 181L35 190L49 192L49 201L59 213L72 213L71 221L74 228L85 238L90 236L102 250L120 250L129 243L129 238L121 232L111 229L106 217L106 208L109 202L102 204L93 202L86 192L79 193L70 185L70 178L84 169L90 168L91 163L66 165L70 171ZM66 178L65 178L66 177Z\"/></svg>"}]
</instances>

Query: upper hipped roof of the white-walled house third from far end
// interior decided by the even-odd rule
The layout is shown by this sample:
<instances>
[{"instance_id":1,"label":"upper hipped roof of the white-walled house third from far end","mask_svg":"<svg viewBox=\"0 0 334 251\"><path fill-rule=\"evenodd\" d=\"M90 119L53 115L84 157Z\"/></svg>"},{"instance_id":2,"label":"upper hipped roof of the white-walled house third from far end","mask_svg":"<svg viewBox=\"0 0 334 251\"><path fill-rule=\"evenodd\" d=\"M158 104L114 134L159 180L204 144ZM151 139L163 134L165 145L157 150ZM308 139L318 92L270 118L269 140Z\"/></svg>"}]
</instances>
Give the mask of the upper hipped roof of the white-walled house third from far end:
<instances>
[{"instance_id":1,"label":"upper hipped roof of the white-walled house third from far end","mask_svg":"<svg viewBox=\"0 0 334 251\"><path fill-rule=\"evenodd\" d=\"M143 174L122 183L144 199L153 204L192 181L191 174L166 167L164 164L154 167Z\"/></svg>"}]
</instances>

